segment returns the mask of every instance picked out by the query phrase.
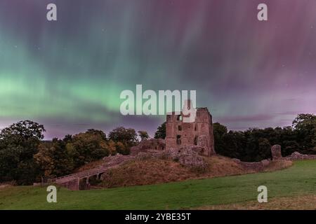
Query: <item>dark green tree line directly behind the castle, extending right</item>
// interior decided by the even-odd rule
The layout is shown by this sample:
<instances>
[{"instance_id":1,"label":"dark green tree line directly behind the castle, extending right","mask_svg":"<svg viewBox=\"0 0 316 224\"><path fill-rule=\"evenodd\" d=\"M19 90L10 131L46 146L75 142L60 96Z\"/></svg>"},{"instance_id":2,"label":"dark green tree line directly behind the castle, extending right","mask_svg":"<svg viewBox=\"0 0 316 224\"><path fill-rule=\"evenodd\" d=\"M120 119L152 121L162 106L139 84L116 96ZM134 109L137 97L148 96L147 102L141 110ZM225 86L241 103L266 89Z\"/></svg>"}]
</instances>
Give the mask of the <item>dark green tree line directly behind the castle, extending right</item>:
<instances>
[{"instance_id":1,"label":"dark green tree line directly behind the castle, extending right","mask_svg":"<svg viewBox=\"0 0 316 224\"><path fill-rule=\"evenodd\" d=\"M294 151L316 154L316 116L299 114L289 127L251 128L246 131L228 131L220 123L213 124L216 153L242 161L260 161L271 158L271 146L282 146L282 155ZM166 123L157 128L154 138L166 137Z\"/></svg>"}]
</instances>

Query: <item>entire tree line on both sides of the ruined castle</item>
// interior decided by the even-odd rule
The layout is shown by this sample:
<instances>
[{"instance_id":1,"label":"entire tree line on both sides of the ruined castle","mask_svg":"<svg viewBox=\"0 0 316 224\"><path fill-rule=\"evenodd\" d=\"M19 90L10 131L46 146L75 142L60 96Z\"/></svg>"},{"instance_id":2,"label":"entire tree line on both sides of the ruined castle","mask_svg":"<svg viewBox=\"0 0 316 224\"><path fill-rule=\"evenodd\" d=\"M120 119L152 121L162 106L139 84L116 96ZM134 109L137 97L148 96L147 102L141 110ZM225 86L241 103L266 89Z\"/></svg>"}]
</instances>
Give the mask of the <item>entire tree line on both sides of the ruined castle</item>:
<instances>
[{"instance_id":1,"label":"entire tree line on both sides of the ruined castle","mask_svg":"<svg viewBox=\"0 0 316 224\"><path fill-rule=\"evenodd\" d=\"M271 158L270 148L282 146L282 155L294 151L316 154L316 116L298 115L291 127L252 128L228 131L220 123L213 124L216 153L243 161ZM0 132L0 182L16 181L32 184L74 172L89 162L108 155L129 154L131 146L148 139L145 131L117 127L108 136L100 130L66 135L64 139L44 141L44 126L30 120L20 121ZM157 128L155 138L166 137L166 123Z\"/></svg>"}]
</instances>

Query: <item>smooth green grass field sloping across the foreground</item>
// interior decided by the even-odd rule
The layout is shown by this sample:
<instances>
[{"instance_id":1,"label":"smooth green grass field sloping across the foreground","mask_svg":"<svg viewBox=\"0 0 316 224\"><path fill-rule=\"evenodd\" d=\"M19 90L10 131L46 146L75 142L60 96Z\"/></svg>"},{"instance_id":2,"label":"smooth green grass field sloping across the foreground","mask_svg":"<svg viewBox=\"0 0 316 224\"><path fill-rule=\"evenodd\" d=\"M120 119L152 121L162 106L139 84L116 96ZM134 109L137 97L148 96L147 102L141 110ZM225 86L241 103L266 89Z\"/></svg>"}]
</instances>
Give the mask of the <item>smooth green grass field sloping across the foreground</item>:
<instances>
[{"instance_id":1,"label":"smooth green grass field sloping across the foreground","mask_svg":"<svg viewBox=\"0 0 316 224\"><path fill-rule=\"evenodd\" d=\"M0 189L0 209L190 209L254 201L258 186L268 197L316 195L316 160L294 162L277 172L190 180L152 186L70 191L60 188L57 203L46 202L46 188Z\"/></svg>"}]
</instances>

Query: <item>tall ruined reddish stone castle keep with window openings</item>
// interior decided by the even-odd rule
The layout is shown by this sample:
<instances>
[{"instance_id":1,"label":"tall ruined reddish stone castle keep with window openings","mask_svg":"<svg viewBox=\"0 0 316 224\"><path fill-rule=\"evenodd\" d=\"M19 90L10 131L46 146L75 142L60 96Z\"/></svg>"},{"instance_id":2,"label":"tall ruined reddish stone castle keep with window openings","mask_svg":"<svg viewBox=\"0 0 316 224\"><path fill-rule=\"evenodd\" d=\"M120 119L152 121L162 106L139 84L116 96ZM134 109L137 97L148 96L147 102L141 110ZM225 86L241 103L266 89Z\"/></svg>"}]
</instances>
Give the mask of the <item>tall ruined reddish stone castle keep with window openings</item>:
<instances>
[{"instance_id":1,"label":"tall ruined reddish stone castle keep with window openings","mask_svg":"<svg viewBox=\"0 0 316 224\"><path fill-rule=\"evenodd\" d=\"M166 149L178 149L184 146L202 148L203 154L215 153L212 116L207 108L197 108L195 122L183 123L183 113L166 116Z\"/></svg>"}]
</instances>

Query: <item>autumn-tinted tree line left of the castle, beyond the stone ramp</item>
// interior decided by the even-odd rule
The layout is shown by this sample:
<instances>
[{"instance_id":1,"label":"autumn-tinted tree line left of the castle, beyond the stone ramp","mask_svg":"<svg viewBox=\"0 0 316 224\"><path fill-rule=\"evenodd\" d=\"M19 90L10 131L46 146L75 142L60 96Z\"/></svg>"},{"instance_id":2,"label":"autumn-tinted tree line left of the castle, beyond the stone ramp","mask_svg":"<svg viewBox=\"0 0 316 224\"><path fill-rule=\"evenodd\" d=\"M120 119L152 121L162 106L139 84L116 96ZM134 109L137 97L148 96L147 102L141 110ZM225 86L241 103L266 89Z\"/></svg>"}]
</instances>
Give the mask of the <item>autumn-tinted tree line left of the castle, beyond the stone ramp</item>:
<instances>
[{"instance_id":1,"label":"autumn-tinted tree line left of the castle, beyond the stone ramp","mask_svg":"<svg viewBox=\"0 0 316 224\"><path fill-rule=\"evenodd\" d=\"M88 162L117 153L127 155L138 142L136 131L117 127L108 137L103 131L88 130L64 139L44 141L44 126L30 120L6 127L0 132L0 182L34 181L71 174ZM140 131L140 138L148 134Z\"/></svg>"}]
</instances>

